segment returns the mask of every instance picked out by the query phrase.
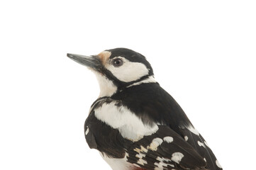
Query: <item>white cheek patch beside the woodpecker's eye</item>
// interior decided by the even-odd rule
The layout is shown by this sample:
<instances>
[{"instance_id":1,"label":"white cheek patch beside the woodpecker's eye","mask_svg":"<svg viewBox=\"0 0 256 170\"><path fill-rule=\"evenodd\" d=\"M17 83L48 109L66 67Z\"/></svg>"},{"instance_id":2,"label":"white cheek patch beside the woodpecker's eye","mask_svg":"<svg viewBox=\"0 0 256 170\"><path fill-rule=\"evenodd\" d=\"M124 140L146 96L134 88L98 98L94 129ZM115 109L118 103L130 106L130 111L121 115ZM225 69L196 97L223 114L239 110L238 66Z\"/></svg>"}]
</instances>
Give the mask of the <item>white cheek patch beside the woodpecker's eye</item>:
<instances>
[{"instance_id":1,"label":"white cheek patch beside the woodpecker's eye","mask_svg":"<svg viewBox=\"0 0 256 170\"><path fill-rule=\"evenodd\" d=\"M145 64L140 62L130 62L123 57L118 58L123 60L123 65L120 67L114 67L112 64L106 64L106 69L108 69L117 79L123 82L130 82L148 75L149 71L148 68L145 67Z\"/></svg>"}]
</instances>

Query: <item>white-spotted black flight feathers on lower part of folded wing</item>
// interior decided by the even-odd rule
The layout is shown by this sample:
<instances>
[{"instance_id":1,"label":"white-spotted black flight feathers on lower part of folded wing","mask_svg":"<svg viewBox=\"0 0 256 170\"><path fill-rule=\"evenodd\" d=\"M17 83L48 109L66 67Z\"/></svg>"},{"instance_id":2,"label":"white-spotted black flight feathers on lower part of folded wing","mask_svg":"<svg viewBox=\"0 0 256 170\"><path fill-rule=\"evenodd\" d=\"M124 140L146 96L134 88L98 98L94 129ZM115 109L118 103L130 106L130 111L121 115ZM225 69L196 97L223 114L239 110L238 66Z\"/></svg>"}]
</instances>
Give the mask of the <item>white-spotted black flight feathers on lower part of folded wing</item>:
<instances>
[{"instance_id":1,"label":"white-spotted black flight feathers on lower part of folded wing","mask_svg":"<svg viewBox=\"0 0 256 170\"><path fill-rule=\"evenodd\" d=\"M128 162L142 169L205 169L204 159L180 135L166 125L158 127L125 149Z\"/></svg>"}]
</instances>

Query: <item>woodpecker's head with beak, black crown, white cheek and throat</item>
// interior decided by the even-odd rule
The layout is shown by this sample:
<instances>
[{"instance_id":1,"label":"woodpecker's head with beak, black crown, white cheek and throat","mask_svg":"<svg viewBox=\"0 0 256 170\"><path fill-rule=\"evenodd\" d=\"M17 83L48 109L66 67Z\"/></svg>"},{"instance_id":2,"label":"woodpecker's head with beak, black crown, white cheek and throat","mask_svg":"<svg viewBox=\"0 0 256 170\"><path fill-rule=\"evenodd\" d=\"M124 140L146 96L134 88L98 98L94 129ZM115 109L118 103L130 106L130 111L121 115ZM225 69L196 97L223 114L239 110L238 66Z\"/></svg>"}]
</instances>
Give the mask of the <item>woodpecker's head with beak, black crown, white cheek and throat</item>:
<instances>
[{"instance_id":1,"label":"woodpecker's head with beak, black crown, white cheek and throat","mask_svg":"<svg viewBox=\"0 0 256 170\"><path fill-rule=\"evenodd\" d=\"M152 67L145 57L126 48L105 50L91 56L67 54L67 57L87 66L96 74L100 96L111 96L118 89L145 79L154 79Z\"/></svg>"}]
</instances>

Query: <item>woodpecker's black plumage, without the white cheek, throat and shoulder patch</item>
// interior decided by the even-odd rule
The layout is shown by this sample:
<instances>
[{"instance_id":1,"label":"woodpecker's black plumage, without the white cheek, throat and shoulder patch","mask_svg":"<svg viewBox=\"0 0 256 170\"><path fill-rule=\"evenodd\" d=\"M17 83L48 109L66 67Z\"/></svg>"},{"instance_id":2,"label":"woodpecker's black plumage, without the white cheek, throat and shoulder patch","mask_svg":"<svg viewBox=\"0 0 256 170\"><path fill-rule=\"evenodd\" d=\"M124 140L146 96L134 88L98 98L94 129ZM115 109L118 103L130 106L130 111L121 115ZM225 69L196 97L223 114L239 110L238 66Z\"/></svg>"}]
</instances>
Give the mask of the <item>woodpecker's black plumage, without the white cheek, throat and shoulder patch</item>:
<instances>
[{"instance_id":1,"label":"woodpecker's black plumage, without the white cheek, throat and shoulder patch","mask_svg":"<svg viewBox=\"0 0 256 170\"><path fill-rule=\"evenodd\" d=\"M117 88L113 94L98 98L91 106L84 124L89 147L98 149L105 157L126 159L134 165L133 169L222 169L204 138L194 129L174 98L157 82L144 81L153 75L145 57L123 48L107 51L111 52L108 60L122 57L129 62L144 64L148 74L123 82L104 64L94 69ZM120 114L122 108L128 108L147 127L157 125L157 131L138 140L124 137L120 128L113 128L108 121L97 118L99 113L96 111L111 103L116 111L120 110Z\"/></svg>"}]
</instances>

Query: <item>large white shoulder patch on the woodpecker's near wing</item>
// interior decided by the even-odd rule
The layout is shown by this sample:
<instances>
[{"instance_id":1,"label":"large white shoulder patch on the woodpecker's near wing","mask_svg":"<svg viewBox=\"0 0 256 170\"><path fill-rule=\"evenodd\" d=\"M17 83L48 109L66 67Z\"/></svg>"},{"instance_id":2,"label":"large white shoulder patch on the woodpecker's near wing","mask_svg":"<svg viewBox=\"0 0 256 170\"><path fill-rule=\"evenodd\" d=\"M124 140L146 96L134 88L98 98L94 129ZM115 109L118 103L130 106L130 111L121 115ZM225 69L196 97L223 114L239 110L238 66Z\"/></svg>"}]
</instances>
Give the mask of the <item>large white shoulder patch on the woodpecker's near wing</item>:
<instances>
[{"instance_id":1,"label":"large white shoulder patch on the woodpecker's near wing","mask_svg":"<svg viewBox=\"0 0 256 170\"><path fill-rule=\"evenodd\" d=\"M101 107L94 110L96 118L110 125L114 129L118 129L121 135L133 141L138 141L143 136L152 135L158 130L155 124L152 127L144 125L137 115L132 113L125 106L116 106L116 102L103 103Z\"/></svg>"}]
</instances>

